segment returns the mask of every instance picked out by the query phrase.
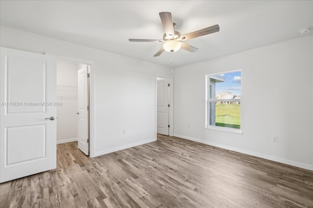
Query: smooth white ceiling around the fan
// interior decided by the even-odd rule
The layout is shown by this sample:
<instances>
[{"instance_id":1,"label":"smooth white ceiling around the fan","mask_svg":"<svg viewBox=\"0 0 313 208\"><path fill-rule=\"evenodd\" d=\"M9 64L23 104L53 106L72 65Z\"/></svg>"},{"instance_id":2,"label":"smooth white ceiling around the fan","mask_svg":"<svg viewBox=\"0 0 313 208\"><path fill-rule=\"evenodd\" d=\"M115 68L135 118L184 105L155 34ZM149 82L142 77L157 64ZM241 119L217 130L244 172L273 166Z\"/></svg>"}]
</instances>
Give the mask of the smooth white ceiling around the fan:
<instances>
[{"instance_id":1,"label":"smooth white ceiling around the fan","mask_svg":"<svg viewBox=\"0 0 313 208\"><path fill-rule=\"evenodd\" d=\"M220 32L186 40L195 53L153 55L162 43L159 12L171 12L182 35L214 24ZM313 1L0 1L0 24L115 54L174 67L300 38L313 26ZM312 35L312 32L307 34Z\"/></svg>"}]
</instances>

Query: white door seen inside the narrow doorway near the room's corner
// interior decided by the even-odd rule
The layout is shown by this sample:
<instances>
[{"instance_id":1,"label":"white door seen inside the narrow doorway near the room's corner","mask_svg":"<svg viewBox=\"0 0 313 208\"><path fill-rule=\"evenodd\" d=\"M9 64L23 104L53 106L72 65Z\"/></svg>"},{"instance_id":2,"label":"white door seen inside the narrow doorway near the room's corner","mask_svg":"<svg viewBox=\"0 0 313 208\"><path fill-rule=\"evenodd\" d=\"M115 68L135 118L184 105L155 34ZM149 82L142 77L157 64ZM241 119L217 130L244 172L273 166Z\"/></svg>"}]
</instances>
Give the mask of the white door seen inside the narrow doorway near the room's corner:
<instances>
[{"instance_id":1,"label":"white door seen inside the narrow doorway near the room's corner","mask_svg":"<svg viewBox=\"0 0 313 208\"><path fill-rule=\"evenodd\" d=\"M156 132L169 134L168 128L168 80L156 81Z\"/></svg>"}]
</instances>

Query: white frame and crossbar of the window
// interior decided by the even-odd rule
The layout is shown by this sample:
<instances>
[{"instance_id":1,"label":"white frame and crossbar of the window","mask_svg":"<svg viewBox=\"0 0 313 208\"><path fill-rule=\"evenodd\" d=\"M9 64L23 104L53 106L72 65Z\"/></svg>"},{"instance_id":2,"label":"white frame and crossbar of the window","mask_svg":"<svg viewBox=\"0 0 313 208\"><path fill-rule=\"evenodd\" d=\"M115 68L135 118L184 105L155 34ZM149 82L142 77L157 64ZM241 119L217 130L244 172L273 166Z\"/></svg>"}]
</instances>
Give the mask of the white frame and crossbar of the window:
<instances>
[{"instance_id":1,"label":"white frame and crossbar of the window","mask_svg":"<svg viewBox=\"0 0 313 208\"><path fill-rule=\"evenodd\" d=\"M215 74L209 74L205 75L205 128L206 129L214 129L214 130L220 130L225 132L235 132L235 133L242 133L242 99L237 99L235 102L240 102L240 129L233 129L228 127L220 127L220 126L212 126L210 125L210 103L211 102L234 102L233 99L211 99L210 95L210 76L214 75L221 75L221 74L227 74L232 72L242 72L241 69L233 70L233 71L227 71L227 72L219 72ZM242 86L242 83L241 83ZM242 95L241 95L242 98Z\"/></svg>"}]
</instances>

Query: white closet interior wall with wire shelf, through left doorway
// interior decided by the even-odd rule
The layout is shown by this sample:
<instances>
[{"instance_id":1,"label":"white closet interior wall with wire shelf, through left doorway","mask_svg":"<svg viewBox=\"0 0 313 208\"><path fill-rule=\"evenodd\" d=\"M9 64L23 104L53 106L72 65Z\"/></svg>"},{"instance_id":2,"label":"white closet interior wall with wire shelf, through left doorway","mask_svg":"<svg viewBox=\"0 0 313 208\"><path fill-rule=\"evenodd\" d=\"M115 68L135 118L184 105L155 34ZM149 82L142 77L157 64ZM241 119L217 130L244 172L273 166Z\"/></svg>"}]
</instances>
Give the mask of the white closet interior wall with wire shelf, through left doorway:
<instances>
[{"instance_id":1,"label":"white closet interior wall with wire shelf, through left doorway","mask_svg":"<svg viewBox=\"0 0 313 208\"><path fill-rule=\"evenodd\" d=\"M77 141L77 71L79 64L57 62L57 143Z\"/></svg>"}]
</instances>

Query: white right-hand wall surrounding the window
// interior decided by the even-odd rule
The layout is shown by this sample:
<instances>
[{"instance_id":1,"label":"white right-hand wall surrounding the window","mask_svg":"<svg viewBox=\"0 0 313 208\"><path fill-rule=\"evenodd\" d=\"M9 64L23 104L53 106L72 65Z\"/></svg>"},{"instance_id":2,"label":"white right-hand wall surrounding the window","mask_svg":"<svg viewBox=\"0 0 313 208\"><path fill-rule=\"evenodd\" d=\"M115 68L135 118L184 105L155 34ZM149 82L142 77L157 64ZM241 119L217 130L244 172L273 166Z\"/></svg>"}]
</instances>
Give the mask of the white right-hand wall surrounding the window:
<instances>
[{"instance_id":1,"label":"white right-hand wall surrounding the window","mask_svg":"<svg viewBox=\"0 0 313 208\"><path fill-rule=\"evenodd\" d=\"M205 75L237 69L243 134L205 129ZM174 77L174 135L313 170L313 36L179 67Z\"/></svg>"}]
</instances>

